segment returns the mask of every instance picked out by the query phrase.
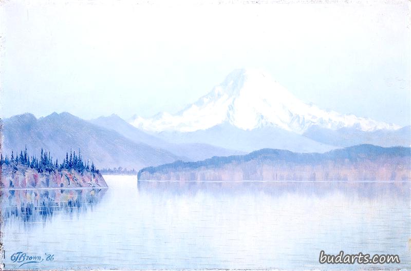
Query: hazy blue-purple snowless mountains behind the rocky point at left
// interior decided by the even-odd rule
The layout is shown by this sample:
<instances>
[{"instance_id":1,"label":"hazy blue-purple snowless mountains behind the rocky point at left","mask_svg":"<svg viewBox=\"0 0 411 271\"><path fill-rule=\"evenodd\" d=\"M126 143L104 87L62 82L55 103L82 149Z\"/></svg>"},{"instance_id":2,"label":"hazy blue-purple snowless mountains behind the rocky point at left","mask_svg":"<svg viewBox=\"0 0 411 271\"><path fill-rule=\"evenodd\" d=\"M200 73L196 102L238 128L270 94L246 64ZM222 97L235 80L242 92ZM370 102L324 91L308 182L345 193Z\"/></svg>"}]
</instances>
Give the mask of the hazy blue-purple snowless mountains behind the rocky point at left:
<instances>
[{"instance_id":1,"label":"hazy blue-purple snowless mountains behind the rocky point at left","mask_svg":"<svg viewBox=\"0 0 411 271\"><path fill-rule=\"evenodd\" d=\"M36 119L25 113L3 121L3 153L41 148L63 160L70 149L81 149L86 159L99 168L123 167L136 170L176 160L197 161L212 156L241 154L206 144L171 144L128 124L117 115L85 121L70 113L52 113ZM150 145L149 145L150 144Z\"/></svg>"}]
</instances>

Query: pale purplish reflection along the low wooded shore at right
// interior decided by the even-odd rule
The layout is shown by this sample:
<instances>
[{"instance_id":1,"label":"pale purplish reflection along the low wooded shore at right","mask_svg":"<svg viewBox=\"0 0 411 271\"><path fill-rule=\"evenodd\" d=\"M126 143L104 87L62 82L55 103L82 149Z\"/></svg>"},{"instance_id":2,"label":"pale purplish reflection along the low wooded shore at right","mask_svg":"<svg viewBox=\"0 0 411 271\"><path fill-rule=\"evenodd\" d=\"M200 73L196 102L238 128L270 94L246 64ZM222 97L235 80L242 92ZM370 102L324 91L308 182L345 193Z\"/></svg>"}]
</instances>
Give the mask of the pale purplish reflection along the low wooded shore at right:
<instances>
[{"instance_id":1,"label":"pale purplish reflection along the low wooded shore at right","mask_svg":"<svg viewBox=\"0 0 411 271\"><path fill-rule=\"evenodd\" d=\"M303 197L326 197L339 193L363 199L395 198L409 200L410 182L176 182L139 181L142 193L195 196L207 193L215 197L259 195L271 197L298 195Z\"/></svg>"}]
</instances>

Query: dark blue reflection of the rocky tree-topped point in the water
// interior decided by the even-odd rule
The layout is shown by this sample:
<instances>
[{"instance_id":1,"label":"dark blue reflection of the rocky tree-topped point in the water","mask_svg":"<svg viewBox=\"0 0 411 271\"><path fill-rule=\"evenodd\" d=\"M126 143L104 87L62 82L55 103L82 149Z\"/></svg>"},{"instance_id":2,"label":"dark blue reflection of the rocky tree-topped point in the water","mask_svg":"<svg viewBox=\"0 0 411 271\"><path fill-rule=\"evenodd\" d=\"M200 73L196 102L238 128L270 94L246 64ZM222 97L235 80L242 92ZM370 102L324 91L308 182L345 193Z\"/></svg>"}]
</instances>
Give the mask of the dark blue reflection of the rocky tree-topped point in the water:
<instances>
[{"instance_id":1,"label":"dark blue reflection of the rocky tree-topped point in the water","mask_svg":"<svg viewBox=\"0 0 411 271\"><path fill-rule=\"evenodd\" d=\"M0 190L2 223L45 221L47 218L92 208L106 189Z\"/></svg>"}]
</instances>

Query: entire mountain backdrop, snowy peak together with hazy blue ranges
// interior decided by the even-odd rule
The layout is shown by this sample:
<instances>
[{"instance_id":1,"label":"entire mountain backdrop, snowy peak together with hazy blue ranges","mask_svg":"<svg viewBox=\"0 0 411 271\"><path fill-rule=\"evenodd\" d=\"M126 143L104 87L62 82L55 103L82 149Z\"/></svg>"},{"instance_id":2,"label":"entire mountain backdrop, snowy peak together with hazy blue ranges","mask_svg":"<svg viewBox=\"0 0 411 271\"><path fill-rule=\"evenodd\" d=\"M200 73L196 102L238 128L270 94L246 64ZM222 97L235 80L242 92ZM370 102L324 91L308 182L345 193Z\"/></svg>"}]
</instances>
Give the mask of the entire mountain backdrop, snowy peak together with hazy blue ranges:
<instances>
[{"instance_id":1,"label":"entire mountain backdrop, snowy peak together with hazy blue ranges","mask_svg":"<svg viewBox=\"0 0 411 271\"><path fill-rule=\"evenodd\" d=\"M246 69L233 71L176 114L126 122L115 114L86 121L67 112L39 119L25 113L3 125L4 153L27 145L63 159L70 148L80 148L99 168L136 170L264 148L326 152L359 144L411 145L411 126L322 110L296 99L269 74Z\"/></svg>"}]
</instances>

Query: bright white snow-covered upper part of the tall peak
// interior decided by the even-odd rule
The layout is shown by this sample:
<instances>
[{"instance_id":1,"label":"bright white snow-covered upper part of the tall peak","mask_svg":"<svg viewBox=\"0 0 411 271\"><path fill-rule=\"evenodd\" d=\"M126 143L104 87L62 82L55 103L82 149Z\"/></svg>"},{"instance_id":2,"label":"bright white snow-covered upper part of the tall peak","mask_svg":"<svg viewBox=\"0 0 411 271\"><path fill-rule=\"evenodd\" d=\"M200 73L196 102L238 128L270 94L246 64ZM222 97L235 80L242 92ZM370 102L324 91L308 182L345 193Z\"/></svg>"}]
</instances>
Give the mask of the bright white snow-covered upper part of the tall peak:
<instances>
[{"instance_id":1,"label":"bright white snow-covered upper part of the tall peak","mask_svg":"<svg viewBox=\"0 0 411 271\"><path fill-rule=\"evenodd\" d=\"M147 131L193 132L220 124L242 130L275 127L303 134L311 126L338 130L396 130L395 124L326 111L298 100L264 71L238 69L207 95L176 114L160 113L131 122Z\"/></svg>"}]
</instances>

